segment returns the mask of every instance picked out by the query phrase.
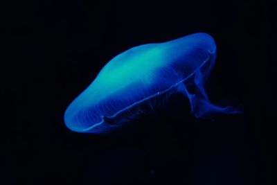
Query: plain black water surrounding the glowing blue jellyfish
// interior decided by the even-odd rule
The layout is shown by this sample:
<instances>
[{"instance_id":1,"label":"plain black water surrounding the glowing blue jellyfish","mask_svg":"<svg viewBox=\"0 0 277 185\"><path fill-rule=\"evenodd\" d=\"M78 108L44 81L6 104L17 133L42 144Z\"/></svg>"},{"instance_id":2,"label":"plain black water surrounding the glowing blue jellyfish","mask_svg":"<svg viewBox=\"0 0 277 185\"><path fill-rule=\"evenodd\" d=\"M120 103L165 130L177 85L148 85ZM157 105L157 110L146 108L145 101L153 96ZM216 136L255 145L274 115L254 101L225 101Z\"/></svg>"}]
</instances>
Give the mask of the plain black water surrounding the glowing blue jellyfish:
<instances>
[{"instance_id":1,"label":"plain black water surrounding the glowing blue jellyfish","mask_svg":"<svg viewBox=\"0 0 277 185\"><path fill-rule=\"evenodd\" d=\"M1 6L0 184L276 184L276 1L21 1ZM244 114L197 120L176 95L109 135L69 131L73 98L132 46L206 32L211 100Z\"/></svg>"}]
</instances>

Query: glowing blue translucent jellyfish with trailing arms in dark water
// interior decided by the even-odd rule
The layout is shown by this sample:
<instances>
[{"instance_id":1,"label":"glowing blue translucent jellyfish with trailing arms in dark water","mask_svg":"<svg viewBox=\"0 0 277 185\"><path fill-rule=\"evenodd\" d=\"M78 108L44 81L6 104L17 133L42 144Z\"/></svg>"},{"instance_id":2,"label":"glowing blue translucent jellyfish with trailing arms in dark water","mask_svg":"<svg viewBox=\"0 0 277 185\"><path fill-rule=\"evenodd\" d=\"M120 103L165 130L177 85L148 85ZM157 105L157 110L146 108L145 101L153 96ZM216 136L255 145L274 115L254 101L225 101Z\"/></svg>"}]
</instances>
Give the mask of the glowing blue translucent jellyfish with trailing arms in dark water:
<instances>
[{"instance_id":1,"label":"glowing blue translucent jellyfish with trailing arms in dark water","mask_svg":"<svg viewBox=\"0 0 277 185\"><path fill-rule=\"evenodd\" d=\"M213 105L204 90L215 53L215 41L206 33L120 53L73 100L64 121L76 132L109 132L148 112L158 100L174 92L188 97L196 117L236 113L233 107Z\"/></svg>"}]
</instances>

